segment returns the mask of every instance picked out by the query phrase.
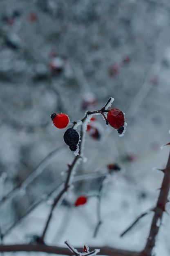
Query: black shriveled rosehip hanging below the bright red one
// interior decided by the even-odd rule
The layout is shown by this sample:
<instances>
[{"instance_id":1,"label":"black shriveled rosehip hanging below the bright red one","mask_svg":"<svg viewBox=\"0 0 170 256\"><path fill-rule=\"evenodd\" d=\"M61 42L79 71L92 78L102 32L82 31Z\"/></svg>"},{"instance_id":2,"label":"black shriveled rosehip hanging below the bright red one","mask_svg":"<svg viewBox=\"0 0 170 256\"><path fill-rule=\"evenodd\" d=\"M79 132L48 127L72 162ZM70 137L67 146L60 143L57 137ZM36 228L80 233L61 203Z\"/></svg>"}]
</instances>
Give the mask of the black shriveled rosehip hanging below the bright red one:
<instances>
[{"instance_id":1,"label":"black shriveled rosehip hanging below the bright red one","mask_svg":"<svg viewBox=\"0 0 170 256\"><path fill-rule=\"evenodd\" d=\"M72 151L76 150L76 145L78 144L79 141L79 135L76 130L73 128L67 129L67 131L64 134L64 141L65 143L70 146Z\"/></svg>"}]
</instances>

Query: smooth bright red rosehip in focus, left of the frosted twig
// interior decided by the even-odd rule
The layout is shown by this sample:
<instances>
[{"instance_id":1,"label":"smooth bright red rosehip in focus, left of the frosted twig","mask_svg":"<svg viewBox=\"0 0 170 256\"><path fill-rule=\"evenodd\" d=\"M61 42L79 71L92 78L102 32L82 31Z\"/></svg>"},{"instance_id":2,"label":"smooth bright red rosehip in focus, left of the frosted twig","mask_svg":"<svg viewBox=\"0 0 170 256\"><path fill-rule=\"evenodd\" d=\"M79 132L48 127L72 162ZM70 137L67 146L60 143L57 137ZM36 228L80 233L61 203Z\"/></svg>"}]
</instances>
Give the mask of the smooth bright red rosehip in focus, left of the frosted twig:
<instances>
[{"instance_id":1,"label":"smooth bright red rosehip in focus, left of the frosted twig","mask_svg":"<svg viewBox=\"0 0 170 256\"><path fill-rule=\"evenodd\" d=\"M66 114L52 114L51 120L53 121L54 126L56 126L59 129L63 129L67 127L69 124L69 117Z\"/></svg>"}]
</instances>

